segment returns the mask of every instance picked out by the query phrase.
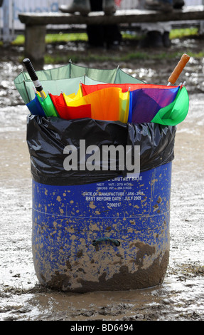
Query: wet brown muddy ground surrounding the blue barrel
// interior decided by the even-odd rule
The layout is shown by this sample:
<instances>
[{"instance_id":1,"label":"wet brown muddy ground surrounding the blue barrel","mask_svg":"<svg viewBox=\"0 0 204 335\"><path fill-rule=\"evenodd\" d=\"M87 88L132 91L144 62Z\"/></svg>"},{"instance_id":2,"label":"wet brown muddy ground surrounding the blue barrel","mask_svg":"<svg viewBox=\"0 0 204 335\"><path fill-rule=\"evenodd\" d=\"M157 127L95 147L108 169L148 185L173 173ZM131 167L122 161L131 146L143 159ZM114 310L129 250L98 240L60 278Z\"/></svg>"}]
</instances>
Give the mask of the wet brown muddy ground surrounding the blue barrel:
<instances>
[{"instance_id":1,"label":"wet brown muddy ground surrounding the blue barrel","mask_svg":"<svg viewBox=\"0 0 204 335\"><path fill-rule=\"evenodd\" d=\"M81 46L80 46L81 47ZM171 50L202 51L203 39L173 41ZM55 49L59 46L55 46ZM63 49L64 48L64 49ZM73 44L61 47L72 56ZM52 47L50 46L50 50ZM181 75L190 108L178 125L171 188L171 238L163 284L124 292L72 294L38 284L31 252L31 172L26 145L28 110L14 87L23 49L4 48L0 63L0 320L1 321L203 321L204 320L204 63L190 58ZM82 46L80 52L85 53ZM100 51L102 52L102 51ZM105 52L105 51L104 51ZM127 52L126 46L112 53ZM151 51L154 52L154 51ZM120 64L146 83L167 82L179 58ZM81 63L114 68L114 62ZM60 64L59 64L60 65Z\"/></svg>"}]
</instances>

